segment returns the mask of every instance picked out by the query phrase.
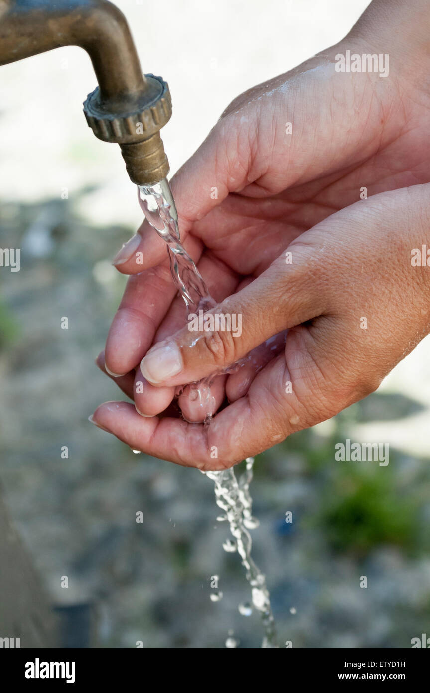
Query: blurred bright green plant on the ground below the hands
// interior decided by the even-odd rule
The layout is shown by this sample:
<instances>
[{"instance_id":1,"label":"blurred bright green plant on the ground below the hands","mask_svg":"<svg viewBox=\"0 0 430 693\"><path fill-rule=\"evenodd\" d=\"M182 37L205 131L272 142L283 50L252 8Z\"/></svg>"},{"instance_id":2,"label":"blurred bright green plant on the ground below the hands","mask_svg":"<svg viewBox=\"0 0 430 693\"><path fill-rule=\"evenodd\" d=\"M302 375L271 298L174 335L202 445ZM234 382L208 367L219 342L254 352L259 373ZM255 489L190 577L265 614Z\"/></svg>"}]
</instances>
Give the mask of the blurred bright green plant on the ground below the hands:
<instances>
[{"instance_id":1,"label":"blurred bright green plant on the ground below the hands","mask_svg":"<svg viewBox=\"0 0 430 693\"><path fill-rule=\"evenodd\" d=\"M323 541L339 553L364 556L382 545L394 545L409 554L425 550L420 532L422 499L415 485L405 488L400 482L399 453L390 450L386 467L377 462L334 460L334 446L348 437L348 424L357 412L355 405L337 416L330 437L308 429L279 446L286 461L284 473L289 455L301 455L305 474L315 478L321 491L307 526L318 527Z\"/></svg>"}]
</instances>

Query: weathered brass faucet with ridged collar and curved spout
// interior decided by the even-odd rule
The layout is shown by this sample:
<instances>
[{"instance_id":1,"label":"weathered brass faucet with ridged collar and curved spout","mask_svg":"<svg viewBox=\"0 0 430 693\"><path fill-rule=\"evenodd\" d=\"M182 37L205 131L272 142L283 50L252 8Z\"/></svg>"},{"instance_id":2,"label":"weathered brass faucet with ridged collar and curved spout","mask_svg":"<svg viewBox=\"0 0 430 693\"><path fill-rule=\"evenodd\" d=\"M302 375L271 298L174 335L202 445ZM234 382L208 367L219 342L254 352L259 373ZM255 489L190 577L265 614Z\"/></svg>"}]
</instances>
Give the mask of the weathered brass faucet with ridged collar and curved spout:
<instances>
[{"instance_id":1,"label":"weathered brass faucet with ridged collar and curved spout","mask_svg":"<svg viewBox=\"0 0 430 693\"><path fill-rule=\"evenodd\" d=\"M91 58L98 87L84 114L96 137L120 144L136 185L164 179L160 130L172 114L169 87L142 74L123 13L107 0L0 0L0 65L61 46L80 46Z\"/></svg>"}]
</instances>

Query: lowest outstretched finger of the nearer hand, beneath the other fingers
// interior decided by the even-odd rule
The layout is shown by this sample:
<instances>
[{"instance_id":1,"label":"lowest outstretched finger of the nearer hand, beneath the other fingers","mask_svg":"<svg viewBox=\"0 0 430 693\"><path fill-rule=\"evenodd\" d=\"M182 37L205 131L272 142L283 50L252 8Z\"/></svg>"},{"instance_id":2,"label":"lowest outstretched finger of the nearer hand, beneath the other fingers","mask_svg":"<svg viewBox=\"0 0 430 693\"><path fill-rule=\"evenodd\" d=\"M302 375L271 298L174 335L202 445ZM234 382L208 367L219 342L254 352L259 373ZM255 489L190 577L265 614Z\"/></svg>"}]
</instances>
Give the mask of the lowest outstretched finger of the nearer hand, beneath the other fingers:
<instances>
[{"instance_id":1,"label":"lowest outstretched finger of the nearer hand, beneath the other fingers","mask_svg":"<svg viewBox=\"0 0 430 693\"><path fill-rule=\"evenodd\" d=\"M125 402L100 405L92 421L148 455L202 470L223 469L306 426L309 416L297 418L288 401L285 408L279 405L278 394L289 377L285 357L278 356L260 371L247 396L222 410L209 426L172 418L142 419Z\"/></svg>"}]
</instances>

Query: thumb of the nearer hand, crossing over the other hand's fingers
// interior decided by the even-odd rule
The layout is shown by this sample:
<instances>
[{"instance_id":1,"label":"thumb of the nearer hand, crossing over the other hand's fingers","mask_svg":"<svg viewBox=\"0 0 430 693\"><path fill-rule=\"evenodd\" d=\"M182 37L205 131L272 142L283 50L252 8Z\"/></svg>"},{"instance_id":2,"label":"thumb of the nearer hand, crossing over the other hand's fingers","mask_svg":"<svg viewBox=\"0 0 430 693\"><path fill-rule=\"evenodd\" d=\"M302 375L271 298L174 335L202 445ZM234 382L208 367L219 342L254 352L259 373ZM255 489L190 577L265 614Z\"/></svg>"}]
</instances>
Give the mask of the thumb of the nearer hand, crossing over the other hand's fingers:
<instances>
[{"instance_id":1,"label":"thumb of the nearer hand, crossing over the other hand's fingers","mask_svg":"<svg viewBox=\"0 0 430 693\"><path fill-rule=\"evenodd\" d=\"M297 246L294 265L280 256L248 286L155 344L141 361L152 385L184 385L219 373L269 337L321 315L323 292L312 279L308 248Z\"/></svg>"}]
</instances>

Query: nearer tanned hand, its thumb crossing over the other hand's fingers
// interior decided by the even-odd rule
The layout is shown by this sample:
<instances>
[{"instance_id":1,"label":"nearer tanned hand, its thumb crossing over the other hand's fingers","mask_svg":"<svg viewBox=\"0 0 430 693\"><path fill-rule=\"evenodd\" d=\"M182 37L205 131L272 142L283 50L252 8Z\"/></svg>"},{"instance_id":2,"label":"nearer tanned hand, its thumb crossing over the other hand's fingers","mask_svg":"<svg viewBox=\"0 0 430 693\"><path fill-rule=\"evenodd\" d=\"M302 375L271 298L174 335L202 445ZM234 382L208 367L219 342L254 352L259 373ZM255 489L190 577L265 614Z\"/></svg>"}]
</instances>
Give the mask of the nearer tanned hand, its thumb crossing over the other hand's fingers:
<instances>
[{"instance_id":1,"label":"nearer tanned hand, its thumb crossing over the other hand's fingers","mask_svg":"<svg viewBox=\"0 0 430 693\"><path fill-rule=\"evenodd\" d=\"M430 184L417 185L334 213L289 244L291 263L281 254L214 309L240 313L242 335L182 328L147 354L142 367L154 389L174 387L222 370L289 330L283 353L210 426L145 419L118 402L100 405L94 422L150 455L224 468L373 392L430 331L429 267L411 263L413 249L428 237L429 200ZM166 348L176 369L171 377L156 353Z\"/></svg>"}]
</instances>

